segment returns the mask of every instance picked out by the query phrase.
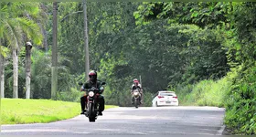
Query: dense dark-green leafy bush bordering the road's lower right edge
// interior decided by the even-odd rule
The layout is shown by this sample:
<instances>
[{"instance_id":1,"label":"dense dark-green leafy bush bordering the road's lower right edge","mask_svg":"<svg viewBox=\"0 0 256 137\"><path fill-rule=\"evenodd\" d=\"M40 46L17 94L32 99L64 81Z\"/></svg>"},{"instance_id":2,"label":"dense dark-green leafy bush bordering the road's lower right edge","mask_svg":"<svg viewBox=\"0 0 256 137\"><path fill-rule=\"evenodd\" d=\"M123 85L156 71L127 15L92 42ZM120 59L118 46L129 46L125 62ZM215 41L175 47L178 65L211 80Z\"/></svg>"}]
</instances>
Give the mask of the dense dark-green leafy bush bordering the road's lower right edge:
<instances>
[{"instance_id":1,"label":"dense dark-green leafy bush bordering the road's lower right edge","mask_svg":"<svg viewBox=\"0 0 256 137\"><path fill-rule=\"evenodd\" d=\"M256 66L240 71L227 94L225 124L229 132L256 133Z\"/></svg>"}]
</instances>

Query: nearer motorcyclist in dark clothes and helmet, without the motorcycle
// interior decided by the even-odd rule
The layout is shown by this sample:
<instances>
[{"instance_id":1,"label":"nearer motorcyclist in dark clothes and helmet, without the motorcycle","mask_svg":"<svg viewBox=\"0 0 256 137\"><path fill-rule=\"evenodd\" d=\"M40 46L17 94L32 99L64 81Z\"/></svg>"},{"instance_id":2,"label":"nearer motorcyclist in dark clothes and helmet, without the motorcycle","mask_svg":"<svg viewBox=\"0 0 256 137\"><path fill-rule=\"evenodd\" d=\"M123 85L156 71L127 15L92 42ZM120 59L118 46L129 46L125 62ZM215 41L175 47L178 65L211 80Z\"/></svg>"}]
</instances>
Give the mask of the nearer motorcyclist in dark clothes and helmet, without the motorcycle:
<instances>
[{"instance_id":1,"label":"nearer motorcyclist in dark clothes and helmet, without the motorcycle","mask_svg":"<svg viewBox=\"0 0 256 137\"><path fill-rule=\"evenodd\" d=\"M95 87L96 91L99 91L99 96L98 96L98 100L99 100L99 115L102 115L102 111L104 111L105 109L105 100L104 97L101 95L103 92L103 89L100 87L101 86L101 82L97 79L97 72L94 70L91 70L89 72L89 80L86 81L82 86L80 91L86 91L86 93L84 94L84 96L82 96L80 98L80 106L81 106L81 112L80 114L84 114L86 112L85 109L87 109L87 95L88 95L88 91L92 88Z\"/></svg>"}]
</instances>

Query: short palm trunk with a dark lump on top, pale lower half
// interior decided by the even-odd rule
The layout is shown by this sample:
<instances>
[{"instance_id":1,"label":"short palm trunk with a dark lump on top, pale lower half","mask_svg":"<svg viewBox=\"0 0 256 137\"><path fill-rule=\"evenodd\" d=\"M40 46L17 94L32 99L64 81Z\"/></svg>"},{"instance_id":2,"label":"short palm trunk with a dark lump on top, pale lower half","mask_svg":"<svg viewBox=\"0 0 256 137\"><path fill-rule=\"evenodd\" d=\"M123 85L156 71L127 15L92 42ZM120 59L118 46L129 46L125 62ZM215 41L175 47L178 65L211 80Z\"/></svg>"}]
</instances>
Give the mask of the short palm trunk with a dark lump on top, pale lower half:
<instances>
[{"instance_id":1,"label":"short palm trunk with a dark lump on top, pale lower half","mask_svg":"<svg viewBox=\"0 0 256 137\"><path fill-rule=\"evenodd\" d=\"M32 47L32 46L31 46ZM31 47L26 46L26 99L30 99L30 80L31 80Z\"/></svg>"}]
</instances>

